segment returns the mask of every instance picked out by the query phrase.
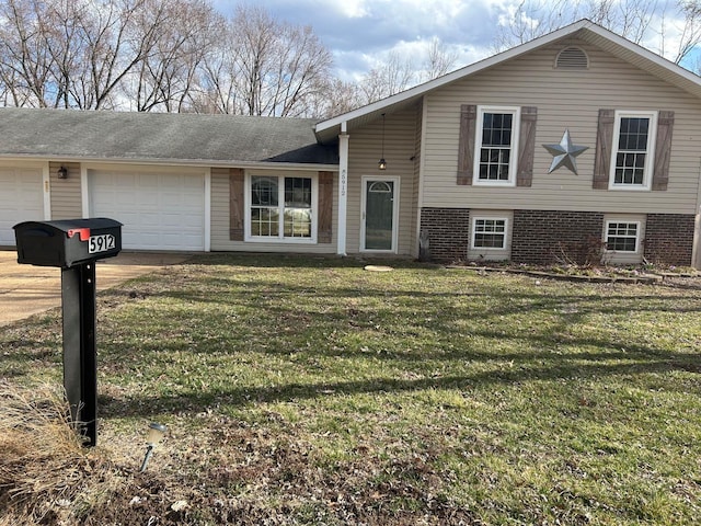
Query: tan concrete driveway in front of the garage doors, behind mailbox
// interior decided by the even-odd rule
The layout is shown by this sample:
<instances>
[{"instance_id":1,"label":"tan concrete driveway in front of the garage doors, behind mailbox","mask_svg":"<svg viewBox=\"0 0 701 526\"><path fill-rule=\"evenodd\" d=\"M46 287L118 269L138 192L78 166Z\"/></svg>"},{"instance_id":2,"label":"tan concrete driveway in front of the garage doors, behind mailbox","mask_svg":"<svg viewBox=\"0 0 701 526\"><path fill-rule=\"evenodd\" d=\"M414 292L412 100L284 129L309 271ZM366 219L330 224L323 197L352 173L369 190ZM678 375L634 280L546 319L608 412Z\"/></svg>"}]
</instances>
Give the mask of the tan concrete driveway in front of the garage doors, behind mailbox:
<instances>
[{"instance_id":1,"label":"tan concrete driveway in front of the garage doors, behind mailbox","mask_svg":"<svg viewBox=\"0 0 701 526\"><path fill-rule=\"evenodd\" d=\"M122 252L97 262L97 290L184 262L189 254ZM61 270L20 265L14 250L0 250L0 325L61 305Z\"/></svg>"}]
</instances>

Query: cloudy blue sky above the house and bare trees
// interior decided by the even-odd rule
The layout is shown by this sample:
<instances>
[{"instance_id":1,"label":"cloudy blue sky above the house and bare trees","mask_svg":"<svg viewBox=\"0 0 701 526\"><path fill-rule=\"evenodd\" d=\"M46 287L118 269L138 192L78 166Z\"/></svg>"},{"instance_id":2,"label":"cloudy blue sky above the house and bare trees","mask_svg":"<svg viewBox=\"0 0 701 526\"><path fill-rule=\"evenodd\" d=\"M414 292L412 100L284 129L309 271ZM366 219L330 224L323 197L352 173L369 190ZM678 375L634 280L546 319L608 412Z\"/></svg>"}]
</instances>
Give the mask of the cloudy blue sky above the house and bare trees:
<instances>
[{"instance_id":1,"label":"cloudy blue sky above the house and bare trees","mask_svg":"<svg viewBox=\"0 0 701 526\"><path fill-rule=\"evenodd\" d=\"M613 0L625 1L625 0ZM630 1L630 0L628 0ZM496 52L499 26L522 0L256 0L278 21L311 25L332 50L336 76L357 81L390 53L421 65L434 38L456 56L452 69ZM537 3L545 3L541 0ZM229 16L241 0L214 0ZM657 1L674 8L674 1ZM676 14L668 8L665 15ZM668 24L669 25L669 24ZM670 25L671 27L675 24ZM674 30L668 34L669 37ZM655 43L646 43L654 48Z\"/></svg>"}]
</instances>

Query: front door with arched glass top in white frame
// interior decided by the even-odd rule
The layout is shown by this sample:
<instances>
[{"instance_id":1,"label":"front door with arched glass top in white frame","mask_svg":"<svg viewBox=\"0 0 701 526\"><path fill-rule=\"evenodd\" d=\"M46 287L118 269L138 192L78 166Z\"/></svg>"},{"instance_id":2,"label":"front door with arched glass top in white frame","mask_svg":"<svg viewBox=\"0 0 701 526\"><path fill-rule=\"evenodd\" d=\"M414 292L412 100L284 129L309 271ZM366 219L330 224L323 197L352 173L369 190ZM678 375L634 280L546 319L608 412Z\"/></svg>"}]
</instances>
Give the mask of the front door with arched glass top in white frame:
<instances>
[{"instance_id":1,"label":"front door with arched glass top in white frame","mask_svg":"<svg viewBox=\"0 0 701 526\"><path fill-rule=\"evenodd\" d=\"M399 181L363 180L364 251L397 252L397 206Z\"/></svg>"}]
</instances>

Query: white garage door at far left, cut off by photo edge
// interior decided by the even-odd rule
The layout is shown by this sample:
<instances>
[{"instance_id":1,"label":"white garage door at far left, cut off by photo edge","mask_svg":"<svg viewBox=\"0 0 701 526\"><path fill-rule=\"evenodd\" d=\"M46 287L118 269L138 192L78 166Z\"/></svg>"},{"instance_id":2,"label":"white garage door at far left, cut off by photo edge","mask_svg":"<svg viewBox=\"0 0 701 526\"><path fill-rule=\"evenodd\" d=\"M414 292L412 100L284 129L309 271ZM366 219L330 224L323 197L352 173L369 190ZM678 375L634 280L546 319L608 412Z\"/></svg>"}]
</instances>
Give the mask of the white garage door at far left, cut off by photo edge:
<instances>
[{"instance_id":1,"label":"white garage door at far left, cut off by photo edge","mask_svg":"<svg viewBox=\"0 0 701 526\"><path fill-rule=\"evenodd\" d=\"M12 227L18 222L43 220L42 171L0 168L0 245L14 247Z\"/></svg>"}]
</instances>

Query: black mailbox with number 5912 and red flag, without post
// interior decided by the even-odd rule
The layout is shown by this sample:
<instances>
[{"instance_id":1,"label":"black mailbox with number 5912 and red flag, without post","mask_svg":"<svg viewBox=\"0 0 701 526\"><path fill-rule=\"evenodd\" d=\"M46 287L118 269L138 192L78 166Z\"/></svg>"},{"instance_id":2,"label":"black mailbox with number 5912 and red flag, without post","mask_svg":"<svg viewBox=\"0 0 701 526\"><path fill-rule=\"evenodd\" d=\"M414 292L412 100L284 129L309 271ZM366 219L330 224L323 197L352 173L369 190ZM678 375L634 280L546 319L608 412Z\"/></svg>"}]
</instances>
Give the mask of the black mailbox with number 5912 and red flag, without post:
<instances>
[{"instance_id":1,"label":"black mailbox with number 5912 and red flag, without post","mask_svg":"<svg viewBox=\"0 0 701 526\"><path fill-rule=\"evenodd\" d=\"M104 217L25 221L14 226L18 262L70 268L122 250L122 224Z\"/></svg>"}]
</instances>

